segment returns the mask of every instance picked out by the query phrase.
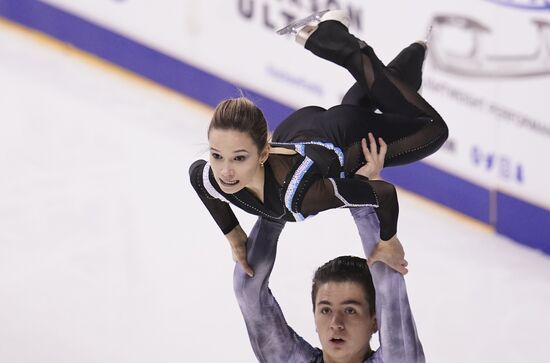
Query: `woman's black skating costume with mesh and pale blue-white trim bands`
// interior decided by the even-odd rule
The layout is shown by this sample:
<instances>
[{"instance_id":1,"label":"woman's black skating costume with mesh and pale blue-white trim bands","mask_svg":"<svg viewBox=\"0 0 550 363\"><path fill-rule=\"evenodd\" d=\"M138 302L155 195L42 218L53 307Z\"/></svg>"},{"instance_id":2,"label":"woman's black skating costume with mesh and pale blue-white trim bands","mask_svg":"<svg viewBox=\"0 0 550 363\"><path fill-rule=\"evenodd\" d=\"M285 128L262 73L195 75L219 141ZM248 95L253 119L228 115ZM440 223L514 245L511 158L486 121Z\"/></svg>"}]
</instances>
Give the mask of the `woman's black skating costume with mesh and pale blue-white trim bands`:
<instances>
[{"instance_id":1,"label":"woman's black skating costume with mesh and pale blue-white trim bands","mask_svg":"<svg viewBox=\"0 0 550 363\"><path fill-rule=\"evenodd\" d=\"M420 160L446 140L445 122L416 92L424 49L419 44L409 46L388 68L370 46L333 20L320 23L305 47L345 67L357 83L341 105L328 110L302 108L277 127L272 145L295 150L296 155L269 156L264 203L246 188L223 193L204 160L191 165L191 183L224 234L238 225L229 203L284 221L300 221L332 208L373 206L380 237L387 240L397 230L397 195L387 182L355 175L365 164L360 140L369 132L384 139L388 144L385 166Z\"/></svg>"}]
</instances>

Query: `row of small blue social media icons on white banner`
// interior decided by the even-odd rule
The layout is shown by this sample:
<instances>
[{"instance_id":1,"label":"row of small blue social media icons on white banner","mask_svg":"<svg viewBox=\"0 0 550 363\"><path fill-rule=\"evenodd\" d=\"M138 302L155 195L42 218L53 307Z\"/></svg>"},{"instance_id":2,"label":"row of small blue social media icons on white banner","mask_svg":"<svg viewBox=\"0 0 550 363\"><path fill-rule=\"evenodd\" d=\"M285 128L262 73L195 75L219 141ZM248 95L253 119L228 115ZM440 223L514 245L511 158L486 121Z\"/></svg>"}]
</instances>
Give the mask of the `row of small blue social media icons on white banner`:
<instances>
[{"instance_id":1,"label":"row of small blue social media icons on white banner","mask_svg":"<svg viewBox=\"0 0 550 363\"><path fill-rule=\"evenodd\" d=\"M518 184L523 184L525 181L523 164L508 155L485 151L478 146L472 147L470 155L475 166L489 173L495 173L502 180Z\"/></svg>"}]
</instances>

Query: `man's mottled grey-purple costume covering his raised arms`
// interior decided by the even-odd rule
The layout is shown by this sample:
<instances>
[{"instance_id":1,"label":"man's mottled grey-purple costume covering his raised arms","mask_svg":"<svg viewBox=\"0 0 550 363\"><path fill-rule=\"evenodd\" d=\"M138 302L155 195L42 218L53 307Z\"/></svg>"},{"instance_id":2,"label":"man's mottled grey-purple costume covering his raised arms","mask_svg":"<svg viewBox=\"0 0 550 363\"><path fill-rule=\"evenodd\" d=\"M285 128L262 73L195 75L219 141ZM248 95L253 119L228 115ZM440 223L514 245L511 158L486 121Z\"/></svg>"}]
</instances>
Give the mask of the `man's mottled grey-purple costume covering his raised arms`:
<instances>
[{"instance_id":1,"label":"man's mottled grey-purple costume covering his raised arms","mask_svg":"<svg viewBox=\"0 0 550 363\"><path fill-rule=\"evenodd\" d=\"M371 207L352 208L350 211L365 255L369 256L379 239L378 218ZM323 361L322 351L312 347L288 326L269 289L269 276L284 223L258 218L247 242L248 262L255 276L248 277L237 264L233 278L235 294L259 362L320 363ZM403 276L383 263L376 263L371 274L376 289L380 348L365 362L424 362Z\"/></svg>"}]
</instances>

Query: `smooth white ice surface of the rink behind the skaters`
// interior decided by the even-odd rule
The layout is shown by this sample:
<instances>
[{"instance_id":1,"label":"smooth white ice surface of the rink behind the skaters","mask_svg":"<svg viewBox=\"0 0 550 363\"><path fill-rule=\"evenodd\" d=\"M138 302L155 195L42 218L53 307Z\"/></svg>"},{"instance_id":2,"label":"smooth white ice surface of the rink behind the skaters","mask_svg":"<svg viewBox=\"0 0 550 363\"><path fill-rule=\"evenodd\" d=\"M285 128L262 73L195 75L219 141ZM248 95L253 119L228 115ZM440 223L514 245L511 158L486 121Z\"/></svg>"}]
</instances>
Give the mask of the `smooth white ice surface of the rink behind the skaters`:
<instances>
[{"instance_id":1,"label":"smooth white ice surface of the rink behind the skaters","mask_svg":"<svg viewBox=\"0 0 550 363\"><path fill-rule=\"evenodd\" d=\"M0 362L255 362L188 182L208 108L1 21L0 112ZM428 362L550 362L550 256L399 196ZM287 224L271 287L311 343L313 271L361 253L346 210Z\"/></svg>"}]
</instances>

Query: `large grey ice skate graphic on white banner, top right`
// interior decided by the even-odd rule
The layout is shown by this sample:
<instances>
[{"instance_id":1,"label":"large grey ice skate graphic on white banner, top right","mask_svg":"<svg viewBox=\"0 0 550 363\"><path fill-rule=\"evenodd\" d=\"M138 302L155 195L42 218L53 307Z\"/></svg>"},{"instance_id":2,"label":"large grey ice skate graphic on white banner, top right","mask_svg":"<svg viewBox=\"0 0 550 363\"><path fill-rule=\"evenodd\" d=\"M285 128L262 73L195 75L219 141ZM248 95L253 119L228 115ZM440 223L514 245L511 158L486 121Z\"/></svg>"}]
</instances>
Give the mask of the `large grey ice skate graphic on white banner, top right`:
<instances>
[{"instance_id":1,"label":"large grey ice skate graphic on white banner, top right","mask_svg":"<svg viewBox=\"0 0 550 363\"><path fill-rule=\"evenodd\" d=\"M492 54L491 28L467 16L437 15L431 21L428 56L442 71L470 77L550 75L550 21L532 20L537 44L527 54Z\"/></svg>"}]
</instances>

